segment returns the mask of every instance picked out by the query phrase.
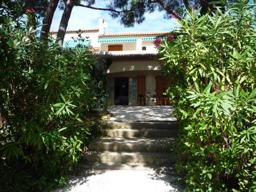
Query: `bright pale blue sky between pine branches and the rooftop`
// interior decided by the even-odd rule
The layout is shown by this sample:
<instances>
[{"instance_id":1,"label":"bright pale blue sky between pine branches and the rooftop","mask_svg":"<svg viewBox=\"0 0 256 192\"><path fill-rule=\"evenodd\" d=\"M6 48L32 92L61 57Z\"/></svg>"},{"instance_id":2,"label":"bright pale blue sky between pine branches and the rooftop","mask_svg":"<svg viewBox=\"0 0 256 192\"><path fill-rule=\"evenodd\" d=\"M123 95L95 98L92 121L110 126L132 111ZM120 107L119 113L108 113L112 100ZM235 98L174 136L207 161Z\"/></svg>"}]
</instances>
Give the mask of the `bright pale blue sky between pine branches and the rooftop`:
<instances>
[{"instance_id":1,"label":"bright pale blue sky between pine branches and the rooftop","mask_svg":"<svg viewBox=\"0 0 256 192\"><path fill-rule=\"evenodd\" d=\"M105 8L104 0L97 0L94 7ZM58 30L59 22L63 10L56 9L51 30ZM69 19L68 30L74 29L95 29L98 28L98 19L102 16L108 27L105 28L105 33L118 32L142 32L142 31L170 31L176 27L176 19L164 19L164 11L155 11L146 13L145 20L141 24L135 24L134 27L125 28L120 24L118 18L113 19L108 11L93 10L83 7L74 7Z\"/></svg>"}]
</instances>

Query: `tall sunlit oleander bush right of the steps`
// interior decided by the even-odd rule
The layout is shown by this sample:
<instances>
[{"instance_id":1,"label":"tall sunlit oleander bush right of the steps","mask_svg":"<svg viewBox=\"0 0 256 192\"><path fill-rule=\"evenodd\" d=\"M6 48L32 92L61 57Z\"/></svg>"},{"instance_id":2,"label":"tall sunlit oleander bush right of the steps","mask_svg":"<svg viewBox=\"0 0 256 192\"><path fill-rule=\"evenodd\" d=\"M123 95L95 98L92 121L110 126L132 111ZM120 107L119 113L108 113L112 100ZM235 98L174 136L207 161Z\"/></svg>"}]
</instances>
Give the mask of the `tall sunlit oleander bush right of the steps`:
<instances>
[{"instance_id":1,"label":"tall sunlit oleander bush right of the steps","mask_svg":"<svg viewBox=\"0 0 256 192\"><path fill-rule=\"evenodd\" d=\"M188 191L256 189L255 4L187 12L158 47L182 132L177 163Z\"/></svg>"}]
</instances>

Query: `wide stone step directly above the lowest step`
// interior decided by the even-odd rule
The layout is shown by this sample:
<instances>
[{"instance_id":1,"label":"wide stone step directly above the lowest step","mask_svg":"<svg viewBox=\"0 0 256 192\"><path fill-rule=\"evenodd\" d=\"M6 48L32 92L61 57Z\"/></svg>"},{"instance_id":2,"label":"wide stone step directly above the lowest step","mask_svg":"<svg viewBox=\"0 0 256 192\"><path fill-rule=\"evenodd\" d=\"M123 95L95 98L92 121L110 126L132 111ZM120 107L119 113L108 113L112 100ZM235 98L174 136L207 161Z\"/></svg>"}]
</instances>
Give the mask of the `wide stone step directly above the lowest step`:
<instances>
[{"instance_id":1,"label":"wide stone step directly above the lowest step","mask_svg":"<svg viewBox=\"0 0 256 192\"><path fill-rule=\"evenodd\" d=\"M122 138L109 137L94 140L90 151L112 152L170 152L175 138Z\"/></svg>"}]
</instances>

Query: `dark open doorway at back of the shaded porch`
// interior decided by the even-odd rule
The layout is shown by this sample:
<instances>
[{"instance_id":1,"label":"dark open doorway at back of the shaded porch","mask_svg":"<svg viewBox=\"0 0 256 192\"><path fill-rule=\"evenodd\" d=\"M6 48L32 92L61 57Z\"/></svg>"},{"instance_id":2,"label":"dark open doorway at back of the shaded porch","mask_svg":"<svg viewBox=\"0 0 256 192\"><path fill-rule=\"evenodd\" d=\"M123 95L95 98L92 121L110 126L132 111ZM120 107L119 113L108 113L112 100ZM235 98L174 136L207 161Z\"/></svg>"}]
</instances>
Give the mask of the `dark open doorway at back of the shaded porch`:
<instances>
[{"instance_id":1,"label":"dark open doorway at back of the shaded porch","mask_svg":"<svg viewBox=\"0 0 256 192\"><path fill-rule=\"evenodd\" d=\"M115 104L129 103L129 78L116 77L115 78Z\"/></svg>"}]
</instances>

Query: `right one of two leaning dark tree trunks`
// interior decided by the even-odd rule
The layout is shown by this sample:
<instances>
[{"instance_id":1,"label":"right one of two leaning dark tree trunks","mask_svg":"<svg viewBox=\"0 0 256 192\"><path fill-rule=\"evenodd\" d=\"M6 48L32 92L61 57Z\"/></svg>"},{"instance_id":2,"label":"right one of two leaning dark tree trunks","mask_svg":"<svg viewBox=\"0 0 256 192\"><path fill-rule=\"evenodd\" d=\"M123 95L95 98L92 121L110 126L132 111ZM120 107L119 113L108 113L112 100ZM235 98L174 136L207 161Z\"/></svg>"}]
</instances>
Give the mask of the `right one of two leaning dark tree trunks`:
<instances>
[{"instance_id":1,"label":"right one of two leaning dark tree trunks","mask_svg":"<svg viewBox=\"0 0 256 192\"><path fill-rule=\"evenodd\" d=\"M69 18L70 18L73 7L74 7L74 0L67 0L66 7L63 11L60 24L59 24L59 30L57 33L57 38L58 38L57 44L59 44L60 48L62 48L62 45L63 45L63 40L65 37L65 33L68 27Z\"/></svg>"}]
</instances>

